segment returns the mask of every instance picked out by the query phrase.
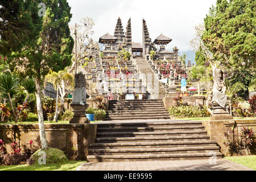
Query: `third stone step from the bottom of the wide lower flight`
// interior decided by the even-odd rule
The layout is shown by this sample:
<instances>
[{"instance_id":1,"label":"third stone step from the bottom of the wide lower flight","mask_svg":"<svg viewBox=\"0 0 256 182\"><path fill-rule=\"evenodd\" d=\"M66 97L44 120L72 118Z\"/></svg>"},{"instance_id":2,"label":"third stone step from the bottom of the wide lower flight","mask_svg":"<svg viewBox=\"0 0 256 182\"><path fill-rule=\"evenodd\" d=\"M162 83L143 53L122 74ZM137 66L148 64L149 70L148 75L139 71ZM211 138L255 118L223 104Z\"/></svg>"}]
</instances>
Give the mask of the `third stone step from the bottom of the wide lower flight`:
<instances>
[{"instance_id":1,"label":"third stone step from the bottom of the wide lower flight","mask_svg":"<svg viewBox=\"0 0 256 182\"><path fill-rule=\"evenodd\" d=\"M127 143L90 143L90 149L107 148L172 148L216 146L212 140L191 140L179 142L127 142Z\"/></svg>"}]
</instances>

